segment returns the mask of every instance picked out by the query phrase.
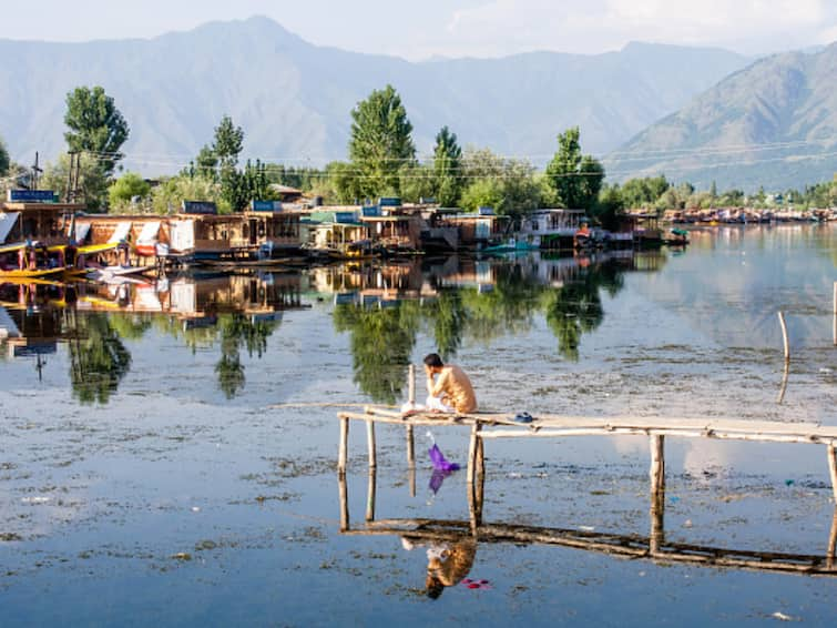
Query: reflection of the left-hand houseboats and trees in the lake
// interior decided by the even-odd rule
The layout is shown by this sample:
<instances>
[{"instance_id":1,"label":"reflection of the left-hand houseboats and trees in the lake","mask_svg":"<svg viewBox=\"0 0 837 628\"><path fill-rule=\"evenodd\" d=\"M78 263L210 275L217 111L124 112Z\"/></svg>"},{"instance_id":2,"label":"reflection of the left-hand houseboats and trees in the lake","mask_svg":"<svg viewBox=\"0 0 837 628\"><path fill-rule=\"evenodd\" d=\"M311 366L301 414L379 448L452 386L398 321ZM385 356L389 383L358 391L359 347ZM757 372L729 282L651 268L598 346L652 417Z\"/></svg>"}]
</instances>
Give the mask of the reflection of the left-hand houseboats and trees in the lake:
<instances>
[{"instance_id":1,"label":"reflection of the left-hand houseboats and trees in the lake","mask_svg":"<svg viewBox=\"0 0 837 628\"><path fill-rule=\"evenodd\" d=\"M303 307L299 275L2 284L0 303L4 354L37 355L40 374L42 355L65 343L73 396L84 404L108 403L131 368L125 341L152 328L193 351L217 343L218 388L232 398L245 384L241 352L261 358L282 311Z\"/></svg>"}]
</instances>

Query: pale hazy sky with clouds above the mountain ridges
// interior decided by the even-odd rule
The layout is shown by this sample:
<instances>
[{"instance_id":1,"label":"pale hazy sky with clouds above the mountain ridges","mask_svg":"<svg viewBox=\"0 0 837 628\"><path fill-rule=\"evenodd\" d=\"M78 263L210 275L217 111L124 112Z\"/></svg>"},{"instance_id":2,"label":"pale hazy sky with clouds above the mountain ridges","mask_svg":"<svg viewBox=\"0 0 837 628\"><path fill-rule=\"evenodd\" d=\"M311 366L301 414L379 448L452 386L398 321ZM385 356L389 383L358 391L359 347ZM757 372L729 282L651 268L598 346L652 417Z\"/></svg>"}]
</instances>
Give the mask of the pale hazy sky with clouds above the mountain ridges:
<instances>
[{"instance_id":1,"label":"pale hazy sky with clouds above the mountain ridges","mask_svg":"<svg viewBox=\"0 0 837 628\"><path fill-rule=\"evenodd\" d=\"M3 3L0 39L152 38L267 16L315 44L410 60L599 53L629 41L761 54L837 40L837 0L40 0L37 12Z\"/></svg>"}]
</instances>

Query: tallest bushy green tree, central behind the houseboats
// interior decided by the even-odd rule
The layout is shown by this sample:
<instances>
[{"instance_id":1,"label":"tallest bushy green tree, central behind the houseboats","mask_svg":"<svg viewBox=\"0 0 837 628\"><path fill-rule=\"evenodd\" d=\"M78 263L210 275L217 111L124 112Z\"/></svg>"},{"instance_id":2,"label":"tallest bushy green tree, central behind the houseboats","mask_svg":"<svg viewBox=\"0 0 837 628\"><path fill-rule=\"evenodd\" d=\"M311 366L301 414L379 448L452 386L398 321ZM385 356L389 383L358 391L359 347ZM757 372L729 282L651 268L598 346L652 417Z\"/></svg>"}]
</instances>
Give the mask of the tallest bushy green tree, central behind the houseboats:
<instances>
[{"instance_id":1,"label":"tallest bushy green tree, central behind the houseboats","mask_svg":"<svg viewBox=\"0 0 837 628\"><path fill-rule=\"evenodd\" d=\"M364 196L399 192L398 171L416 159L412 124L392 85L372 91L351 110L349 159Z\"/></svg>"}]
</instances>

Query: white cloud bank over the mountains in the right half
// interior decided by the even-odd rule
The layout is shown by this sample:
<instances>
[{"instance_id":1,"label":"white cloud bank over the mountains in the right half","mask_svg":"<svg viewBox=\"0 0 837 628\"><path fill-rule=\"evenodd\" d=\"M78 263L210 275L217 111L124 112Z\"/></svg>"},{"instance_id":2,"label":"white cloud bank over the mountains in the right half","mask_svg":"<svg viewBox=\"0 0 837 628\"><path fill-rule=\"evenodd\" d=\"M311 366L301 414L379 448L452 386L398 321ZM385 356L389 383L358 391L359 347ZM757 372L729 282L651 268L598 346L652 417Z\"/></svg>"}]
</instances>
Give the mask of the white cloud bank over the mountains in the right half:
<instances>
[{"instance_id":1,"label":"white cloud bank over the mountains in the right half","mask_svg":"<svg viewBox=\"0 0 837 628\"><path fill-rule=\"evenodd\" d=\"M493 0L447 24L460 52L600 52L632 40L722 45L743 52L830 42L834 0Z\"/></svg>"}]
</instances>

